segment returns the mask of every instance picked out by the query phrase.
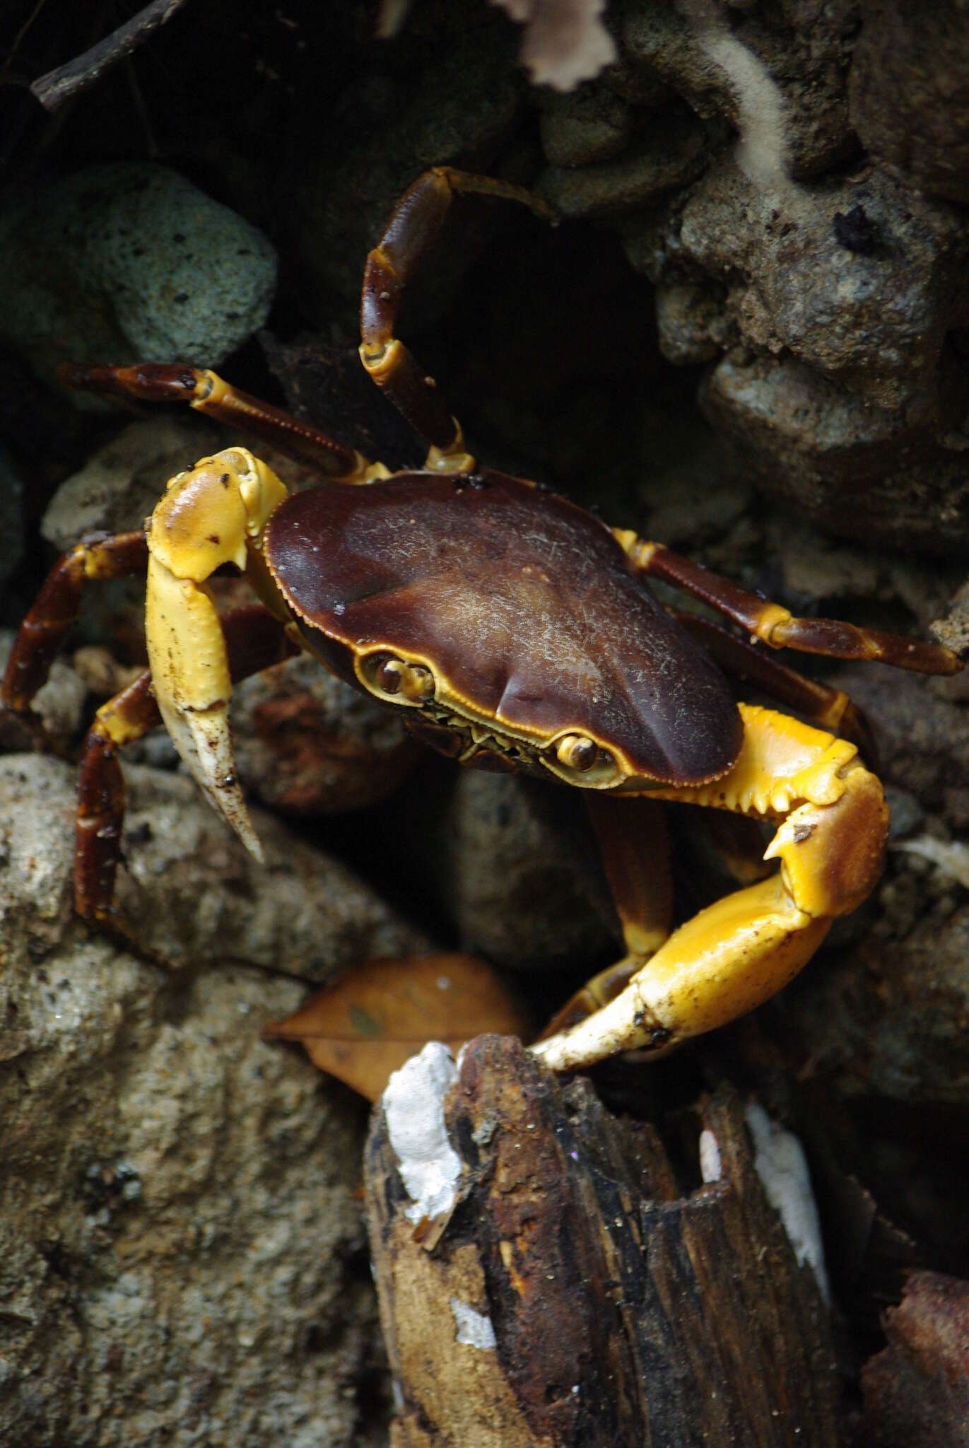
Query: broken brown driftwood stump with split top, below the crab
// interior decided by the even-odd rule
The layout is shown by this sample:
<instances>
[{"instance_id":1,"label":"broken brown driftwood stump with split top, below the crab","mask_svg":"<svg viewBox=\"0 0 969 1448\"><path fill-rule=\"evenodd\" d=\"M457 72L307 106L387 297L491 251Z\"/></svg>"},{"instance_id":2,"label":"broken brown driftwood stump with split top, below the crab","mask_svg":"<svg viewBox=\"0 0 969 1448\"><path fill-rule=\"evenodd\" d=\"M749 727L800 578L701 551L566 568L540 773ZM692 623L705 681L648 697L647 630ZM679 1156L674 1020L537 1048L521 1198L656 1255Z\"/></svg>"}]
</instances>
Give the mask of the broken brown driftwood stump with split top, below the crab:
<instances>
[{"instance_id":1,"label":"broken brown driftwood stump with split top, below the crab","mask_svg":"<svg viewBox=\"0 0 969 1448\"><path fill-rule=\"evenodd\" d=\"M417 1221L426 1109L385 1096L366 1151L395 1448L837 1444L827 1310L730 1092L701 1111L718 1180L682 1195L652 1127L478 1037Z\"/></svg>"}]
</instances>

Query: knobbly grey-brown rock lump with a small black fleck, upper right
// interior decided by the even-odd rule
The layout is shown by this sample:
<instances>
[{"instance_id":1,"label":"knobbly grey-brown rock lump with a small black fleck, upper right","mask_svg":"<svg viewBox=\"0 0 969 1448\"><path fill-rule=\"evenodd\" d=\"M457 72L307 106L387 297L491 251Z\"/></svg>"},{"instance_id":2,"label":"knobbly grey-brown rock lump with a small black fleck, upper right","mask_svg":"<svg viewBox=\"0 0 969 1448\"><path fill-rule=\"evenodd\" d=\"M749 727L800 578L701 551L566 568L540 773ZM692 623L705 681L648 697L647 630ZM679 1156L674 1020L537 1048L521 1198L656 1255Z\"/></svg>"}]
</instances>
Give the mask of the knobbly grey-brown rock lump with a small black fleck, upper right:
<instances>
[{"instance_id":1,"label":"knobbly grey-brown rock lump with a small black fleck, upper right","mask_svg":"<svg viewBox=\"0 0 969 1448\"><path fill-rule=\"evenodd\" d=\"M837 216L855 207L876 237L872 251L839 236ZM969 262L953 209L872 169L772 191L720 165L671 213L666 261L660 288L689 266L724 285L753 352L789 352L869 405L907 408L910 423L939 417L939 363L960 324Z\"/></svg>"}]
</instances>

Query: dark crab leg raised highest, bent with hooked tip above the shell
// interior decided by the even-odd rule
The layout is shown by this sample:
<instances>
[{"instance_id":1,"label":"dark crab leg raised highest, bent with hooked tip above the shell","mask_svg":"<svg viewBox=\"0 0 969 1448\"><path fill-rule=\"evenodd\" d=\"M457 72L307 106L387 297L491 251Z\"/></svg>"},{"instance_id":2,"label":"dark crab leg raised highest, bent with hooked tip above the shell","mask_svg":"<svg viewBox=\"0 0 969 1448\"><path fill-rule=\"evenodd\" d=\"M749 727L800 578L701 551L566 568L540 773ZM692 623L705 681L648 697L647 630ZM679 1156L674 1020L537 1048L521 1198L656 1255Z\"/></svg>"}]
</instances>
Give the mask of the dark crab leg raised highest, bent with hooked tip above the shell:
<instances>
[{"instance_id":1,"label":"dark crab leg raised highest, bent with hooked tip above the shell","mask_svg":"<svg viewBox=\"0 0 969 1448\"><path fill-rule=\"evenodd\" d=\"M394 207L384 235L366 258L361 292L361 359L394 407L429 443L461 450L461 429L417 359L394 337L400 295L436 240L458 194L492 195L527 206L555 222L555 213L521 187L436 167L419 177Z\"/></svg>"}]
</instances>

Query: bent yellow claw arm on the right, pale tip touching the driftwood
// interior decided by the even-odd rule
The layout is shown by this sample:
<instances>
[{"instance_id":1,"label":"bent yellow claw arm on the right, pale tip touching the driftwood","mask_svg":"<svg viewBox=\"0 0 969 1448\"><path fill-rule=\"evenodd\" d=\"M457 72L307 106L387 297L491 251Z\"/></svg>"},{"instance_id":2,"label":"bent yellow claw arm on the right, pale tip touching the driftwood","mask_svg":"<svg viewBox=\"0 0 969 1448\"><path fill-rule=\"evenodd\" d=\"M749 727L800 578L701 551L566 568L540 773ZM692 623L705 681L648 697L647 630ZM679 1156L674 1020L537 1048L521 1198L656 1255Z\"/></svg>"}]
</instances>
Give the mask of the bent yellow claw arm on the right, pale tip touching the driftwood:
<instances>
[{"instance_id":1,"label":"bent yellow claw arm on the right, pale tip touching the driftwood","mask_svg":"<svg viewBox=\"0 0 969 1448\"><path fill-rule=\"evenodd\" d=\"M533 1050L548 1066L572 1070L617 1051L669 1048L726 1025L785 986L831 919L872 891L888 809L855 744L772 710L742 704L740 712L744 743L727 775L655 796L779 820L765 853L781 860L779 872L701 911L620 996L539 1041Z\"/></svg>"}]
</instances>

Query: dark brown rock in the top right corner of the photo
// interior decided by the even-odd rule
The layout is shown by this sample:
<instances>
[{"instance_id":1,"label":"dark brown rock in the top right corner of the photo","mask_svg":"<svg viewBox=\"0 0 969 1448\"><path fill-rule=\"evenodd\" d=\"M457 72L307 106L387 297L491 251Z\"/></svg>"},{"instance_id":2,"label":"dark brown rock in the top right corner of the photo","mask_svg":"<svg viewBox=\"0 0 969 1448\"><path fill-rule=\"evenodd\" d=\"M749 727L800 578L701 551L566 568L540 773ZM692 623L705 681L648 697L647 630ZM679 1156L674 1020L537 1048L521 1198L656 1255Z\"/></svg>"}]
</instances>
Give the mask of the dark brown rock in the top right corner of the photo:
<instances>
[{"instance_id":1,"label":"dark brown rock in the top right corner of the photo","mask_svg":"<svg viewBox=\"0 0 969 1448\"><path fill-rule=\"evenodd\" d=\"M865 148L920 191L969 201L969 14L865 0L850 74Z\"/></svg>"}]
</instances>

